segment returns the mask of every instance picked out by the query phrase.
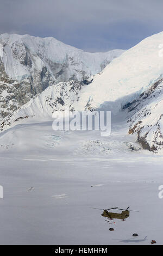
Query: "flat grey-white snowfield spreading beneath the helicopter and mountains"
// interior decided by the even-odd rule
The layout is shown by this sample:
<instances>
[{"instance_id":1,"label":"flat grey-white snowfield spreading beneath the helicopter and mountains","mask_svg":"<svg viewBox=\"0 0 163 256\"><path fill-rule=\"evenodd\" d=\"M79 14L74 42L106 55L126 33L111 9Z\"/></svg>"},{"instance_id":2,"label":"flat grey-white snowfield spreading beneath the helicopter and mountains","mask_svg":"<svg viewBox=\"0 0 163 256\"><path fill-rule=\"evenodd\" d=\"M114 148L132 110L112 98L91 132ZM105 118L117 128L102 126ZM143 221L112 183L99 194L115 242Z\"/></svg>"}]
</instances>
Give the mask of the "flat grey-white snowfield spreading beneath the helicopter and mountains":
<instances>
[{"instance_id":1,"label":"flat grey-white snowfield spreading beneath the helicopter and mountains","mask_svg":"<svg viewBox=\"0 0 163 256\"><path fill-rule=\"evenodd\" d=\"M53 131L52 121L1 133L2 245L162 244L163 157L142 150L123 118L112 120L105 138ZM108 223L91 209L114 206L140 212Z\"/></svg>"}]
</instances>

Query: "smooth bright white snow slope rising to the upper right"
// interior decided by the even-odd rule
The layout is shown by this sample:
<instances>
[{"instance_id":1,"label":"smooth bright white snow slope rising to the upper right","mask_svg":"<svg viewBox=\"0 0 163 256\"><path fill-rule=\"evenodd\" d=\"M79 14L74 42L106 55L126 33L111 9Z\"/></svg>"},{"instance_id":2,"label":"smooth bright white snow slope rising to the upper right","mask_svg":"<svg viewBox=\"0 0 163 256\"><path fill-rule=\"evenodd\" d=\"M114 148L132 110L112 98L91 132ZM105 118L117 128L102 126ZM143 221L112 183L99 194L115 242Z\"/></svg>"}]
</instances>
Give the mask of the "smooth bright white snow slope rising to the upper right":
<instances>
[{"instance_id":1,"label":"smooth bright white snow slope rising to the upper right","mask_svg":"<svg viewBox=\"0 0 163 256\"><path fill-rule=\"evenodd\" d=\"M163 32L149 36L114 59L83 90L81 108L89 102L92 108L103 107L116 113L143 93L163 74L159 48L162 41Z\"/></svg>"}]
</instances>

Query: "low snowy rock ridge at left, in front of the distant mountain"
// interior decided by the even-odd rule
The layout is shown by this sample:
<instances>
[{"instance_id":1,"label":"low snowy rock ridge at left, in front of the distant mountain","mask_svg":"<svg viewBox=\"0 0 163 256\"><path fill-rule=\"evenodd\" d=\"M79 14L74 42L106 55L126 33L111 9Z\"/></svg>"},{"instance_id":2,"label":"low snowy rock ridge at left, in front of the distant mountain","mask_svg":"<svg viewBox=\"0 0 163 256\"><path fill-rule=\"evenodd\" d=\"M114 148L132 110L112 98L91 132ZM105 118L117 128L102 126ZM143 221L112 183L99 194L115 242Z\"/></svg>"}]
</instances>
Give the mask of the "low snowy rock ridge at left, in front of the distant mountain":
<instances>
[{"instance_id":1,"label":"low snowy rock ridge at left, in front of the distant mountain","mask_svg":"<svg viewBox=\"0 0 163 256\"><path fill-rule=\"evenodd\" d=\"M60 82L55 86L48 87L39 96L18 108L0 121L0 131L6 130L23 119L52 118L54 111L64 111L65 108L73 111L79 100L79 94L83 87L82 82Z\"/></svg>"}]
</instances>

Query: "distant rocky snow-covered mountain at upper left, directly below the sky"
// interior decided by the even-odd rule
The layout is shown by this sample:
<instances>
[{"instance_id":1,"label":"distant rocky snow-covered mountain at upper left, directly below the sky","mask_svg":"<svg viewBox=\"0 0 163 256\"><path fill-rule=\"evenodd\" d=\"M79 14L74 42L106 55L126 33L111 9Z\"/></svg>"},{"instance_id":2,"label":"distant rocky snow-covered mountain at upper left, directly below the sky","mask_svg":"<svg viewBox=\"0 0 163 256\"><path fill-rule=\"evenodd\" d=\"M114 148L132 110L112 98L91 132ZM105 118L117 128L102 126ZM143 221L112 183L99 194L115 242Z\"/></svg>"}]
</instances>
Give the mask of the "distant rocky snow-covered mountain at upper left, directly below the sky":
<instances>
[{"instance_id":1,"label":"distant rocky snow-covered mountain at upper left, directly below the sky","mask_svg":"<svg viewBox=\"0 0 163 256\"><path fill-rule=\"evenodd\" d=\"M89 53L55 38L0 35L0 119L61 81L83 81L124 50Z\"/></svg>"}]
</instances>

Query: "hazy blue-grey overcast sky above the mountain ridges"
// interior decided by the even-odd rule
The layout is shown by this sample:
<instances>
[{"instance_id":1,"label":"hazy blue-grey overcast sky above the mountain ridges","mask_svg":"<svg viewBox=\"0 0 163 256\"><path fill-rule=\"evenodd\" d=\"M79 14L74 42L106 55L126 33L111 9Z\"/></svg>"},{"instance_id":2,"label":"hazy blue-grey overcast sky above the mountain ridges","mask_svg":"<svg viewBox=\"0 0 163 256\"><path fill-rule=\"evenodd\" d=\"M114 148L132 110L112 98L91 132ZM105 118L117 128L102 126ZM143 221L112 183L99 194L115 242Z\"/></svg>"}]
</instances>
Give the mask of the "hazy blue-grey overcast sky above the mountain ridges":
<instances>
[{"instance_id":1,"label":"hazy blue-grey overcast sky above the mountain ridges","mask_svg":"<svg viewBox=\"0 0 163 256\"><path fill-rule=\"evenodd\" d=\"M53 36L90 52L163 31L162 0L0 0L0 33Z\"/></svg>"}]
</instances>

